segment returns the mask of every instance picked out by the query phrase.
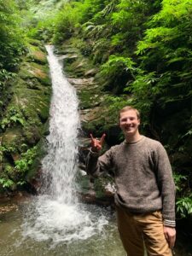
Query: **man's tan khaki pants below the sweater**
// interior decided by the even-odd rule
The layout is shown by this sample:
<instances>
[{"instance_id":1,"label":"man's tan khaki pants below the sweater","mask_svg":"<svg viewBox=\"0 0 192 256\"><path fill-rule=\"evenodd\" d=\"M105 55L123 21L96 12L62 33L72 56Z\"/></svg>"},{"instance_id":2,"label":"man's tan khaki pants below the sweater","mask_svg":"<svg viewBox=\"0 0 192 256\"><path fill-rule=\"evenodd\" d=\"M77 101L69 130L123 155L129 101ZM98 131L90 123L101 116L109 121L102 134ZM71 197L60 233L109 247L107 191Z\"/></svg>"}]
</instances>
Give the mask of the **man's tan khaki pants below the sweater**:
<instances>
[{"instance_id":1,"label":"man's tan khaki pants below the sweater","mask_svg":"<svg viewBox=\"0 0 192 256\"><path fill-rule=\"evenodd\" d=\"M118 229L128 256L143 256L146 247L148 256L172 256L163 233L160 211L147 214L132 214L117 207Z\"/></svg>"}]
</instances>

